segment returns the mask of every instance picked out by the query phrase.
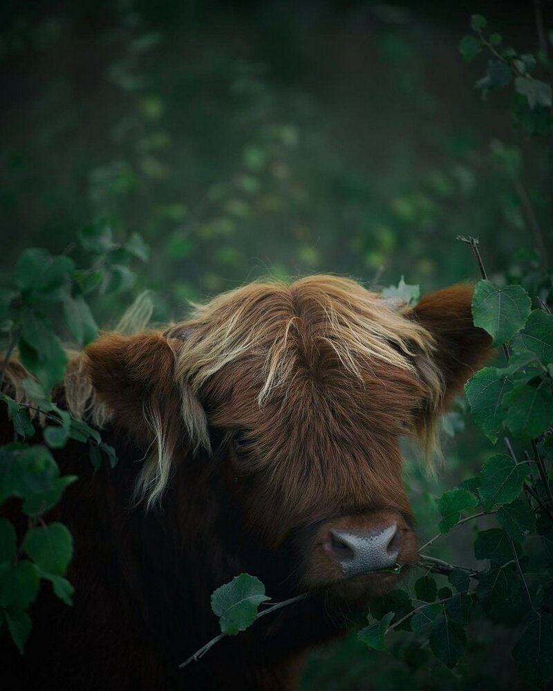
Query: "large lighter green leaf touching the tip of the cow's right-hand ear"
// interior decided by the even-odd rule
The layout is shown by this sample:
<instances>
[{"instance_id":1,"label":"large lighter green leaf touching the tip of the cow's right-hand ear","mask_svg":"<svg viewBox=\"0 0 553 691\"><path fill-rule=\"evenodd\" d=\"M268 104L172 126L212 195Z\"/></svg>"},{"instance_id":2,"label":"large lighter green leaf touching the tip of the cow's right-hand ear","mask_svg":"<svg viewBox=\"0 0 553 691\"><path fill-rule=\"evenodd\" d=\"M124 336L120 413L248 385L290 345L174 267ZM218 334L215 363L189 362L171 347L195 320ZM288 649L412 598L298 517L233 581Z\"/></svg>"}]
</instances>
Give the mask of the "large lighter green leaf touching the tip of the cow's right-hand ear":
<instances>
[{"instance_id":1,"label":"large lighter green leaf touching the tip of the cow's right-hand ear","mask_svg":"<svg viewBox=\"0 0 553 691\"><path fill-rule=\"evenodd\" d=\"M474 289L474 325L493 338L492 347L501 345L520 331L530 313L532 301L521 286L496 286L479 281Z\"/></svg>"}]
</instances>

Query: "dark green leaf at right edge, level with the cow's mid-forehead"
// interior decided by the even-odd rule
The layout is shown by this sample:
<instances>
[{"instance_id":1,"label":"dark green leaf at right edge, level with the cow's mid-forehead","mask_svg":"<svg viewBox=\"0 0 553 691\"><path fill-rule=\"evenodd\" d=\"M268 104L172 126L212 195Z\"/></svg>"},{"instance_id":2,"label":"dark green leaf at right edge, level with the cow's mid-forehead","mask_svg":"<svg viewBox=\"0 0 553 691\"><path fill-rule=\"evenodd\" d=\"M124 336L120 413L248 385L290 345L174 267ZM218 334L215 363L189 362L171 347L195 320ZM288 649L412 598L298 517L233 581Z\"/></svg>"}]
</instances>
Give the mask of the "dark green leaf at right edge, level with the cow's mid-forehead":
<instances>
[{"instance_id":1,"label":"dark green leaf at right edge, level with the cow's mid-forehead","mask_svg":"<svg viewBox=\"0 0 553 691\"><path fill-rule=\"evenodd\" d=\"M535 439L553 423L553 394L545 380L538 387L523 384L505 395L505 424L514 436Z\"/></svg>"}]
</instances>

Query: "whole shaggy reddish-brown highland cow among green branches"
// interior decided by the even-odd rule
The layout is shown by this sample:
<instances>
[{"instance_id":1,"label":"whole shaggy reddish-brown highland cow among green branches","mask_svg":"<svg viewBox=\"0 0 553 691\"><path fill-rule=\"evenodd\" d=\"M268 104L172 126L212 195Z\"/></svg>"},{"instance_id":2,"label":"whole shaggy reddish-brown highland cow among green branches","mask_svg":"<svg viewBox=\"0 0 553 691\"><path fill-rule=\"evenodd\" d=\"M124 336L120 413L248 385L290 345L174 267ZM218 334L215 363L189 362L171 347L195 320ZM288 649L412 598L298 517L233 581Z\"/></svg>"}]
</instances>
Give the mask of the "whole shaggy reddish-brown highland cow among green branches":
<instances>
[{"instance_id":1,"label":"whole shaggy reddish-brown highland cow among green branches","mask_svg":"<svg viewBox=\"0 0 553 691\"><path fill-rule=\"evenodd\" d=\"M75 605L44 588L25 656L3 641L3 688L294 688L306 651L397 585L382 570L417 560L400 438L431 454L485 358L471 295L401 308L337 277L254 283L74 356L59 405L119 462L95 472L86 445L57 452L79 476L48 515L75 539ZM12 393L21 376L8 368ZM274 602L314 594L179 670L218 633L210 593L242 572Z\"/></svg>"}]
</instances>

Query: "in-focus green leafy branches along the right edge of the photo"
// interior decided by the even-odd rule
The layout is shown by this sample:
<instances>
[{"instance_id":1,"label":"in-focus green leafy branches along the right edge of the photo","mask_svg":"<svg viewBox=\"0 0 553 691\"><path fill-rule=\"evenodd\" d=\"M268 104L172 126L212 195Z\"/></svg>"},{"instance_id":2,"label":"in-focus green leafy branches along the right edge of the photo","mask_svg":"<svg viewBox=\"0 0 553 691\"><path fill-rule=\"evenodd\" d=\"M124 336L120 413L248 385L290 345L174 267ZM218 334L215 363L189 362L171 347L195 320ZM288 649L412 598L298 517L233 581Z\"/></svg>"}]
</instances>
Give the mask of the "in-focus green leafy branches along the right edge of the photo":
<instances>
[{"instance_id":1,"label":"in-focus green leafy branches along the right edge of the photo","mask_svg":"<svg viewBox=\"0 0 553 691\"><path fill-rule=\"evenodd\" d=\"M498 53L502 39L498 34L485 37L487 21L481 15L472 17L471 26L476 37L467 36L460 43L465 60L469 62L483 48L496 56L476 87L486 95L507 86L513 73L516 92L531 111L549 108L550 85L530 75L534 57L519 56L512 48ZM516 118L520 113L517 100ZM424 661L427 642L435 658L453 669L467 649L467 631L470 634L471 624L478 626L483 616L514 629L510 650L521 674L530 683L546 683L553 678L553 616L546 596L553 586L552 552L547 549L553 534L552 274L543 268L536 271L532 294L524 286L523 273L516 283L492 282L478 241L462 240L471 246L482 270L472 304L474 324L489 333L493 347L503 347L506 360L477 372L465 387L467 398L476 424L492 443L504 439L507 453L492 455L476 477L442 494L436 503L442 517L440 533L420 548L420 567L427 575L415 582L414 593L395 590L374 600L369 623L357 639L384 652L388 634L410 631L412 636L404 643L410 658L414 646L415 656ZM386 295L409 303L418 297L418 286L406 286L402 277ZM449 564L427 553L435 540L456 526L480 519L494 519L498 527L475 528L477 567ZM532 547L532 538L543 540L541 549ZM447 575L452 589L439 587L431 573Z\"/></svg>"}]
</instances>

